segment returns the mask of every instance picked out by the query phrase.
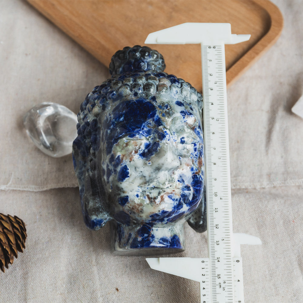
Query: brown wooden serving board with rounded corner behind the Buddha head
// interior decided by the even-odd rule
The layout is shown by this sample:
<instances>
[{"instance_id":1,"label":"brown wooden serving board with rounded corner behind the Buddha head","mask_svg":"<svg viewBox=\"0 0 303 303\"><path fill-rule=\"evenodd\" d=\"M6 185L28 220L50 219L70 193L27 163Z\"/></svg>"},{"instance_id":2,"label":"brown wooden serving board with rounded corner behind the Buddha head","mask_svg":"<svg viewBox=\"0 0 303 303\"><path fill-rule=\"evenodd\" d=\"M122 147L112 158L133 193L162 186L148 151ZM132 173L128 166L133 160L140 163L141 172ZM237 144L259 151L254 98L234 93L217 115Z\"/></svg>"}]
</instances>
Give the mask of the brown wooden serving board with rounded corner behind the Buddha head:
<instances>
[{"instance_id":1,"label":"brown wooden serving board with rounded corner behind the Buddha head","mask_svg":"<svg viewBox=\"0 0 303 303\"><path fill-rule=\"evenodd\" d=\"M151 32L184 22L231 23L233 34L251 38L225 46L228 85L276 42L283 27L281 12L268 0L28 2L107 66L117 50L144 45ZM199 44L148 46L164 56L165 72L202 91Z\"/></svg>"}]
</instances>

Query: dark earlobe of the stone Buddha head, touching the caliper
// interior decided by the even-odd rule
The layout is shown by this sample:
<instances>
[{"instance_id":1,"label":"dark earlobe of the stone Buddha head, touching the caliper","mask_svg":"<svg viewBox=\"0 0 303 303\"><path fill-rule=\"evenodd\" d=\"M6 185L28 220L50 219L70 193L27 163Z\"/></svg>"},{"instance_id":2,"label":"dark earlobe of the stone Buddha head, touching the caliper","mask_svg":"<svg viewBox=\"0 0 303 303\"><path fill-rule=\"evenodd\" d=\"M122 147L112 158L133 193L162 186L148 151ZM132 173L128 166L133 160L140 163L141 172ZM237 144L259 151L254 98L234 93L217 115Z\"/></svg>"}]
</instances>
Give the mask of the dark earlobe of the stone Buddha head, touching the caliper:
<instances>
[{"instance_id":1,"label":"dark earlobe of the stone Buddha head, touching the caliper","mask_svg":"<svg viewBox=\"0 0 303 303\"><path fill-rule=\"evenodd\" d=\"M205 185L201 201L198 207L191 213L187 223L197 232L204 232L207 230Z\"/></svg>"}]
</instances>

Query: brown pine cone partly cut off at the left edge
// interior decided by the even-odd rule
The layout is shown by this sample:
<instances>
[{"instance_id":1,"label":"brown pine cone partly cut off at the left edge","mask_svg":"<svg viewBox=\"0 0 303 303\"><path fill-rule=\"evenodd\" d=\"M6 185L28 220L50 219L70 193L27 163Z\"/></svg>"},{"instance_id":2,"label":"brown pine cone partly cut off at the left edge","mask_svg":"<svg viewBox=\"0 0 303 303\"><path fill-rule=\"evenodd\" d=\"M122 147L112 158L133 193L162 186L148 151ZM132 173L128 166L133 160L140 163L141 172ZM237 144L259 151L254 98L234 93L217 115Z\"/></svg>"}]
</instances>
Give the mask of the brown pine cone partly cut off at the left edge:
<instances>
[{"instance_id":1,"label":"brown pine cone partly cut off at the left edge","mask_svg":"<svg viewBox=\"0 0 303 303\"><path fill-rule=\"evenodd\" d=\"M13 264L14 257L18 258L18 251L23 252L26 240L24 222L17 216L5 216L0 213L0 269Z\"/></svg>"}]
</instances>

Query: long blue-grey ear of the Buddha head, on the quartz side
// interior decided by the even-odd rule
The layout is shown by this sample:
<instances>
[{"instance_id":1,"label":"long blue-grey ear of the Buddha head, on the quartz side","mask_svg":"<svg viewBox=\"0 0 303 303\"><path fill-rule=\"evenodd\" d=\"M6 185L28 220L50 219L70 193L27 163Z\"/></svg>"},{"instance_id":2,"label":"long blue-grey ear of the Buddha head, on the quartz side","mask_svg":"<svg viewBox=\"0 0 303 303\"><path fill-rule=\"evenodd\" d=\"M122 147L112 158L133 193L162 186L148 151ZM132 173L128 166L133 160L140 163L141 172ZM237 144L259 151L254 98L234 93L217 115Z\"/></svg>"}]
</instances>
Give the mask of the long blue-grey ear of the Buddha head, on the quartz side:
<instances>
[{"instance_id":1,"label":"long blue-grey ear of the Buddha head, on the quartz side","mask_svg":"<svg viewBox=\"0 0 303 303\"><path fill-rule=\"evenodd\" d=\"M81 150L74 148L74 145L73 163L79 183L84 223L88 228L98 230L112 218L105 209L104 201L102 201L99 194L96 178L92 174L87 157L81 155Z\"/></svg>"}]
</instances>

